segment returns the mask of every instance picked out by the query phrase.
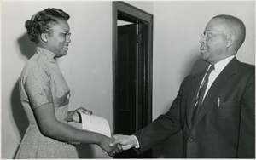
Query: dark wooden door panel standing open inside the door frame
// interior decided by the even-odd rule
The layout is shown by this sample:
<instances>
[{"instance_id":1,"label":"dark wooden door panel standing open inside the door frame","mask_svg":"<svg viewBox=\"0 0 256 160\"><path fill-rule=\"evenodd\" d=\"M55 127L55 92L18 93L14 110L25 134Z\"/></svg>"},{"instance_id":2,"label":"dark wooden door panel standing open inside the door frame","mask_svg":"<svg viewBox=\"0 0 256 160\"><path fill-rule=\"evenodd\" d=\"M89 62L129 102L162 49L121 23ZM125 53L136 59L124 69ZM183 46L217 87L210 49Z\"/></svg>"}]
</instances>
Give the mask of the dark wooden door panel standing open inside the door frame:
<instances>
[{"instance_id":1,"label":"dark wooden door panel standing open inside the door frame","mask_svg":"<svg viewBox=\"0 0 256 160\"><path fill-rule=\"evenodd\" d=\"M137 25L118 26L118 68L115 108L115 134L137 131ZM123 151L116 157L137 157Z\"/></svg>"}]
</instances>

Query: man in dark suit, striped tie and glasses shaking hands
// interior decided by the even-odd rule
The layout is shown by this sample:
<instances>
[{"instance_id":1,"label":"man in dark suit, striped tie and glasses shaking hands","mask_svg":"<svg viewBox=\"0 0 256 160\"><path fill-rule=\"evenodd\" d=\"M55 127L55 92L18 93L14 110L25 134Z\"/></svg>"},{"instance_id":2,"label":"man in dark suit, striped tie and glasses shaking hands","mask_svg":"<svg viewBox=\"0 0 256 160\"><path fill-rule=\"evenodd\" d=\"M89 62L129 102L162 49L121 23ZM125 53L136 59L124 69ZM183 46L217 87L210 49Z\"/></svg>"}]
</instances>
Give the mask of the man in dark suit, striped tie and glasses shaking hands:
<instances>
[{"instance_id":1,"label":"man in dark suit, striped tie and glasses shaking hands","mask_svg":"<svg viewBox=\"0 0 256 160\"><path fill-rule=\"evenodd\" d=\"M182 130L183 157L255 157L255 68L235 56L245 33L238 18L213 17L200 41L207 70L185 77L166 114L110 146L143 153Z\"/></svg>"}]
</instances>

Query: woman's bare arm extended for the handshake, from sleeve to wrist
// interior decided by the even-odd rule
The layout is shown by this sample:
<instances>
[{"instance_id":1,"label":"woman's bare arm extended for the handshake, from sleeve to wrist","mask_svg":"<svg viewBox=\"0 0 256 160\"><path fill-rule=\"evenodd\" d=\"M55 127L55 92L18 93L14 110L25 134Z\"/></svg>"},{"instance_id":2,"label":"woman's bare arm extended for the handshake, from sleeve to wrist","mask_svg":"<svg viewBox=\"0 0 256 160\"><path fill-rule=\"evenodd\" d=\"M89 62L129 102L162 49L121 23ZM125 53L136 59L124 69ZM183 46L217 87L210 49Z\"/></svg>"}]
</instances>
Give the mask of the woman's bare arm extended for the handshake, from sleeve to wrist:
<instances>
[{"instance_id":1,"label":"woman's bare arm extended for the handshake, from sleeve to wrist","mask_svg":"<svg viewBox=\"0 0 256 160\"><path fill-rule=\"evenodd\" d=\"M34 112L38 128L42 134L49 138L65 142L77 141L83 144L99 144L99 140L109 139L102 134L75 129L67 123L59 122L55 117L55 108L52 103L39 106ZM72 119L70 117L71 114L72 112L67 113L66 120Z\"/></svg>"}]
</instances>

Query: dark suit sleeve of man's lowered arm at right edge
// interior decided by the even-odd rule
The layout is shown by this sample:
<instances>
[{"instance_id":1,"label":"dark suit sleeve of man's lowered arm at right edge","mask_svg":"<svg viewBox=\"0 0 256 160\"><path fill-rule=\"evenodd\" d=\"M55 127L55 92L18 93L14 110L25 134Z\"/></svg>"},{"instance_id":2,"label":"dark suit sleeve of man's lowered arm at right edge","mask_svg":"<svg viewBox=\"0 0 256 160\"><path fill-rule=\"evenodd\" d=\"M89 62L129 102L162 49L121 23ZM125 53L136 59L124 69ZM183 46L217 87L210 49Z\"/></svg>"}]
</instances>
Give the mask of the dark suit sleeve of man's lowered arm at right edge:
<instances>
[{"instance_id":1,"label":"dark suit sleeve of man's lowered arm at right edge","mask_svg":"<svg viewBox=\"0 0 256 160\"><path fill-rule=\"evenodd\" d=\"M255 157L255 69L241 97L240 134L237 157Z\"/></svg>"}]
</instances>

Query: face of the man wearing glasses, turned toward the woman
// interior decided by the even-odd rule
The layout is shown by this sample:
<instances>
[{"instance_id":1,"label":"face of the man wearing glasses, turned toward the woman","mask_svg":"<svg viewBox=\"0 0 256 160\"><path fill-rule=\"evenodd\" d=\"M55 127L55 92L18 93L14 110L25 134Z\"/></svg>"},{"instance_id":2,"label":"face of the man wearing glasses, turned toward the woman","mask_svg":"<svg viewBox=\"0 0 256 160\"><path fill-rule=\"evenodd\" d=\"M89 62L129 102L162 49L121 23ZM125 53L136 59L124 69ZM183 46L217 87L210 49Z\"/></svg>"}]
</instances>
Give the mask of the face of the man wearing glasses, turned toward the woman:
<instances>
[{"instance_id":1,"label":"face of the man wearing glasses, turned toward the woman","mask_svg":"<svg viewBox=\"0 0 256 160\"><path fill-rule=\"evenodd\" d=\"M226 58L227 35L222 20L212 19L201 35L201 58L214 65Z\"/></svg>"}]
</instances>

